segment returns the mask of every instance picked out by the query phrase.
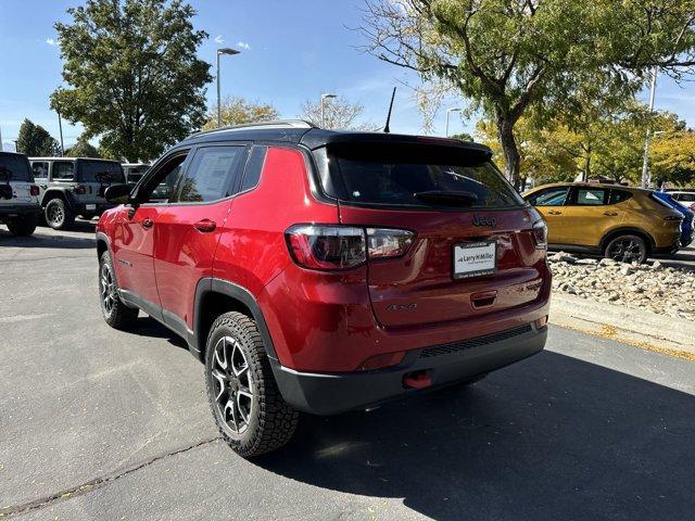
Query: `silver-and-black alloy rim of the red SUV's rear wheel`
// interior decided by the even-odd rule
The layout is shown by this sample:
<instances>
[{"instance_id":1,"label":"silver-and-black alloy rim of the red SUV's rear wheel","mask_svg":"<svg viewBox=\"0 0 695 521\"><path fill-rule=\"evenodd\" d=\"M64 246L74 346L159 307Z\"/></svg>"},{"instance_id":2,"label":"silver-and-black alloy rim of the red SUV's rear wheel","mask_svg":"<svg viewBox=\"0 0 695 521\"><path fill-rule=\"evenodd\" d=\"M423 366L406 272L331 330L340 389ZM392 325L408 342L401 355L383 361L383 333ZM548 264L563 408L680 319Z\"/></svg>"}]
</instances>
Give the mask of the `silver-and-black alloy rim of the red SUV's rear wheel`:
<instances>
[{"instance_id":1,"label":"silver-and-black alloy rim of the red SUV's rear wheel","mask_svg":"<svg viewBox=\"0 0 695 521\"><path fill-rule=\"evenodd\" d=\"M241 434L249 428L253 412L253 380L247 355L239 342L223 336L214 347L211 374L215 406L225 424Z\"/></svg>"}]
</instances>

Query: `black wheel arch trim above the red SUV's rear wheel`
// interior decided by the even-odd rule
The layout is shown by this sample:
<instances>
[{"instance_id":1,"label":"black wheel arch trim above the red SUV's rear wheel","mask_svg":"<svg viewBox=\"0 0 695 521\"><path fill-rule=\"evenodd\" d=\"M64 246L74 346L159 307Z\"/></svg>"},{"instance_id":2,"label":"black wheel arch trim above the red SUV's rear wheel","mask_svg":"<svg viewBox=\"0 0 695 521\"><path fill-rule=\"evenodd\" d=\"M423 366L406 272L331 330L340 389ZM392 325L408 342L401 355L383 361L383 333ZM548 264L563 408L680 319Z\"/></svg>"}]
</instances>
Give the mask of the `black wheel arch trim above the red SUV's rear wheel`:
<instances>
[{"instance_id":1,"label":"black wheel arch trim above the red SUV's rear wheel","mask_svg":"<svg viewBox=\"0 0 695 521\"><path fill-rule=\"evenodd\" d=\"M255 320L258 332L263 338L263 344L265 345L268 357L277 360L278 357L275 351L275 344L273 343L273 338L270 336L270 331L268 330L265 317L263 316L263 312L261 310L261 306L258 306L255 296L253 296L253 294L249 290L239 284L235 284L233 282L213 277L201 279L198 282L198 287L195 288L192 334L193 344L190 345L193 356L198 357L202 361L202 354L205 351L205 342L207 341L207 339L201 338L203 317L201 316L199 310L201 308L203 298L208 293L220 293L223 295L227 295L247 306L253 315L252 318Z\"/></svg>"}]
</instances>

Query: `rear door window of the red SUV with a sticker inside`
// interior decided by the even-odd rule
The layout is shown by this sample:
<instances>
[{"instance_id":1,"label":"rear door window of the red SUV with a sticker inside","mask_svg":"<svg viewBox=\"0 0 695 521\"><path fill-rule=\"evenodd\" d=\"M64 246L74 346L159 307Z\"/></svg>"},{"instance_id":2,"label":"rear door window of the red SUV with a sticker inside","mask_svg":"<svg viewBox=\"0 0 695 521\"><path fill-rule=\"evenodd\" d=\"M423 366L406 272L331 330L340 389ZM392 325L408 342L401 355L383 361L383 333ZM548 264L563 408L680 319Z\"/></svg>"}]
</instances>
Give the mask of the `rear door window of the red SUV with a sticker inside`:
<instances>
[{"instance_id":1,"label":"rear door window of the red SUV with a sticker inside","mask_svg":"<svg viewBox=\"0 0 695 521\"><path fill-rule=\"evenodd\" d=\"M198 149L181 180L178 201L206 203L231 195L243 152L243 147Z\"/></svg>"}]
</instances>

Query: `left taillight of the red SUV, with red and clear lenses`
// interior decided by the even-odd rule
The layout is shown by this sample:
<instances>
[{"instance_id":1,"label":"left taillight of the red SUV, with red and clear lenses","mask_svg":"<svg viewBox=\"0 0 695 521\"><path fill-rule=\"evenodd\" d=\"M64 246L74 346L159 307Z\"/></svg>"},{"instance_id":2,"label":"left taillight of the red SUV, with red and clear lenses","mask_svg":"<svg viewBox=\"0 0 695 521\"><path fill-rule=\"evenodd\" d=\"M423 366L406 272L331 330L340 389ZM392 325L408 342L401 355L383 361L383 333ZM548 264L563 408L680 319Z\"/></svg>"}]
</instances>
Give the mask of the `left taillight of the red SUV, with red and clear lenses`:
<instances>
[{"instance_id":1,"label":"left taillight of the red SUV, with red and clear lenses","mask_svg":"<svg viewBox=\"0 0 695 521\"><path fill-rule=\"evenodd\" d=\"M350 269L367 258L404 255L415 233L388 228L357 228L338 225L295 225L285 232L290 254L305 268Z\"/></svg>"}]
</instances>

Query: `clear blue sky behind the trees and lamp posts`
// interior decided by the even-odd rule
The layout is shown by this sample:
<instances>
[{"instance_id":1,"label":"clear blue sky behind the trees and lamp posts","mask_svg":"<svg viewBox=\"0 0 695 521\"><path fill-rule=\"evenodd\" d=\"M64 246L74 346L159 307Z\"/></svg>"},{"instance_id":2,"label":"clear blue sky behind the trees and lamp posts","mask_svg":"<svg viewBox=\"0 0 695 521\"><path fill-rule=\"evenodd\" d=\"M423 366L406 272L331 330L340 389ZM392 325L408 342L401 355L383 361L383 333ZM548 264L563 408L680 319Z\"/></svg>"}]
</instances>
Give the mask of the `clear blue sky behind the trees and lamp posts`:
<instances>
[{"instance_id":1,"label":"clear blue sky behind the trees and lamp posts","mask_svg":"<svg viewBox=\"0 0 695 521\"><path fill-rule=\"evenodd\" d=\"M65 10L79 2L64 0L0 0L0 131L5 149L13 149L25 117L58 138L58 118L48 97L61 84L60 49L53 24L67 21ZM282 117L295 117L300 105L321 92L336 92L365 106L363 119L382 123L393 86L399 87L392 130L421 134L422 117L412 91L400 81L417 77L382 63L356 47L355 27L363 0L192 0L194 25L210 34L201 59L214 64L217 47L235 47L237 56L223 56L223 96L242 96L274 104ZM215 41L217 40L217 41ZM213 71L214 74L214 71ZM207 89L208 100L214 85ZM446 106L465 105L447 100ZM660 77L656 107L678 113L695 127L695 84L675 85ZM444 134L444 110L434 134ZM65 122L64 122L65 123ZM475 119L452 117L451 131L472 128ZM79 127L64 124L65 145L74 143Z\"/></svg>"}]
</instances>

